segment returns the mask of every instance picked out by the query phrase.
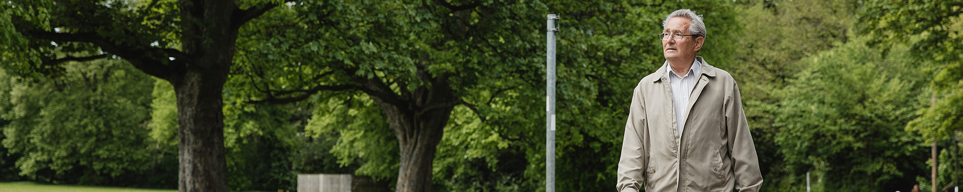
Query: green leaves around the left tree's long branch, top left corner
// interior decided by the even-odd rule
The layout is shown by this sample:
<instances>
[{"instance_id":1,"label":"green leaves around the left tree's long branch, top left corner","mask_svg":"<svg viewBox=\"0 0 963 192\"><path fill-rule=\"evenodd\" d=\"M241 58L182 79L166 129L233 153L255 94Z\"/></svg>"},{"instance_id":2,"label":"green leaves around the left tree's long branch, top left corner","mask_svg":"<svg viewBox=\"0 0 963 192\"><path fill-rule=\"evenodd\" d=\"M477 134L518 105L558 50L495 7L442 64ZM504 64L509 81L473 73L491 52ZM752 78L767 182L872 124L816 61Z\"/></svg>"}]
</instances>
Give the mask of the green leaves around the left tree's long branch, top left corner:
<instances>
[{"instance_id":1,"label":"green leaves around the left tree's long branch, top left corner","mask_svg":"<svg viewBox=\"0 0 963 192\"><path fill-rule=\"evenodd\" d=\"M153 1L151 1L153 2ZM64 53L101 53L117 46L138 45L138 49L169 48L179 34L174 0L157 0L149 10L146 1L6 1L0 3L0 36L3 67L8 73L33 81L65 71ZM49 37L50 33L74 36ZM46 36L46 37L44 37ZM95 36L110 36L110 39ZM92 42L111 43L98 47ZM158 43L150 45L152 43ZM122 50L127 51L127 50ZM117 55L118 53L110 53ZM141 53L140 57L152 53ZM86 54L87 57L93 56ZM149 56L153 57L153 55ZM79 57L78 57L79 58ZM124 58L130 59L130 58ZM162 60L161 62L166 62Z\"/></svg>"}]
</instances>

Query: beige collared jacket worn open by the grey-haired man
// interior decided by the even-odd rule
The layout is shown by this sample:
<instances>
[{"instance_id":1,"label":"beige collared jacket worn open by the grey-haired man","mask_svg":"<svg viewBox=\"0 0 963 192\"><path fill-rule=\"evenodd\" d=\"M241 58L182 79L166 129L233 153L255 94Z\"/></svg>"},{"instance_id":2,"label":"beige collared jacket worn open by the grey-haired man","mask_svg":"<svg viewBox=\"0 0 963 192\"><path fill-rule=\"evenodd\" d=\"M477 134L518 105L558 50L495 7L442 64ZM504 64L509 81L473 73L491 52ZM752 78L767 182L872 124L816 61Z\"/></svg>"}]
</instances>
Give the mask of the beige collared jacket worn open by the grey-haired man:
<instances>
[{"instance_id":1,"label":"beige collared jacket worn open by the grey-haired man","mask_svg":"<svg viewBox=\"0 0 963 192\"><path fill-rule=\"evenodd\" d=\"M739 86L729 73L695 59L702 70L682 136L675 126L668 62L636 86L618 161L618 191L641 191L642 184L655 192L759 191L762 186Z\"/></svg>"}]
</instances>

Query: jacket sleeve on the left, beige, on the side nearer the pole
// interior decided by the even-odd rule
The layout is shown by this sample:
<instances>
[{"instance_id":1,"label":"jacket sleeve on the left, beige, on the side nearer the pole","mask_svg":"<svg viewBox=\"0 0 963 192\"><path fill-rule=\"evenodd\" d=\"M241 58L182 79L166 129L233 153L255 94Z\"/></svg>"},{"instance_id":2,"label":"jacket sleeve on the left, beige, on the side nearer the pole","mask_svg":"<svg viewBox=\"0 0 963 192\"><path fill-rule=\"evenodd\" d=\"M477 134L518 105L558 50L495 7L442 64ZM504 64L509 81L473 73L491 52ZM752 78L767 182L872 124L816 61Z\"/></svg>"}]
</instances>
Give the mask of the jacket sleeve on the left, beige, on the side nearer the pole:
<instances>
[{"instance_id":1,"label":"jacket sleeve on the left, beige, on the side nearer the pole","mask_svg":"<svg viewBox=\"0 0 963 192\"><path fill-rule=\"evenodd\" d=\"M635 192L642 190L648 153L642 145L645 143L647 125L645 122L645 107L642 106L639 88L633 91L632 106L629 108L629 119L625 123L625 136L622 139L622 155L618 160L618 183L616 190L620 192Z\"/></svg>"}]
</instances>

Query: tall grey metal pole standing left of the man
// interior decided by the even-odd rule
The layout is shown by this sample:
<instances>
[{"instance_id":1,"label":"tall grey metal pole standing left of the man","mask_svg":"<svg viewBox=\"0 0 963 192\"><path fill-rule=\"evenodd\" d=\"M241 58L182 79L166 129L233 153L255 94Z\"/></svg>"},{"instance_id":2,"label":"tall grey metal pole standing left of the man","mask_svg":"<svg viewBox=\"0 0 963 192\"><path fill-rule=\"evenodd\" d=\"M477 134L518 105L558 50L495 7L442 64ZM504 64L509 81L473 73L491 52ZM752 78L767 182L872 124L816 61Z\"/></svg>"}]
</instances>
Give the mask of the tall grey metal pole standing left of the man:
<instances>
[{"instance_id":1,"label":"tall grey metal pole standing left of the man","mask_svg":"<svg viewBox=\"0 0 963 192\"><path fill-rule=\"evenodd\" d=\"M555 32L559 15L548 14L548 58L545 73L545 191L555 192Z\"/></svg>"}]
</instances>

